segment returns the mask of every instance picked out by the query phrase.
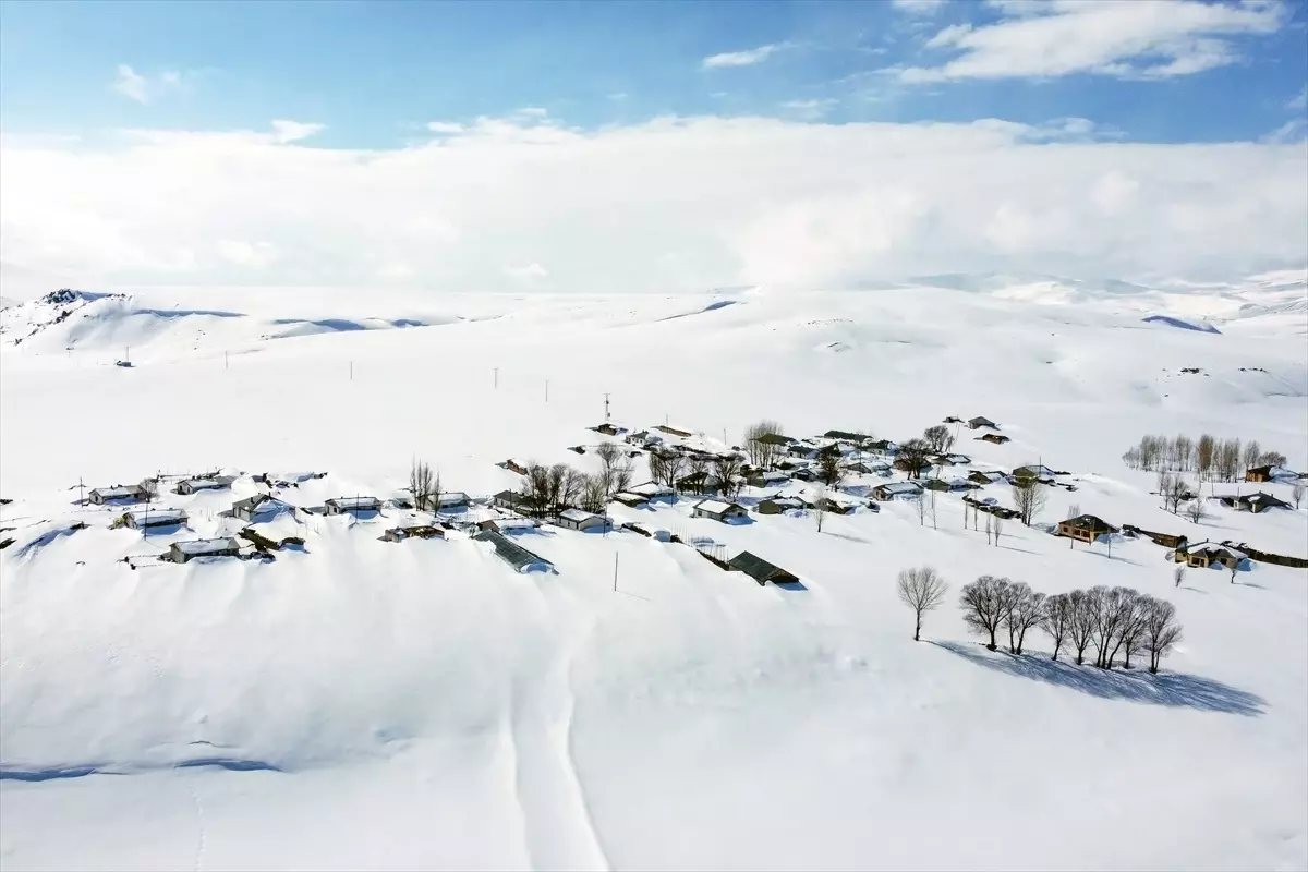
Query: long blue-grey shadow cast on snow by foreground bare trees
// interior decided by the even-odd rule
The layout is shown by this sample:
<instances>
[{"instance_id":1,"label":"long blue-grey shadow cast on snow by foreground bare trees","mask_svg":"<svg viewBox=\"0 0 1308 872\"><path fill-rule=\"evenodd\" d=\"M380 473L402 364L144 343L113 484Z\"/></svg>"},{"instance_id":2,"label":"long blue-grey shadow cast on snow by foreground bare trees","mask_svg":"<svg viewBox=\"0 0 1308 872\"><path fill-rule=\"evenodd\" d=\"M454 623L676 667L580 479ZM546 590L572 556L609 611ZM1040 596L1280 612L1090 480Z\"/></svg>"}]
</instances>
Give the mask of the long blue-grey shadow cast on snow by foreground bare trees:
<instances>
[{"instance_id":1,"label":"long blue-grey shadow cast on snow by foreground bare trees","mask_svg":"<svg viewBox=\"0 0 1308 872\"><path fill-rule=\"evenodd\" d=\"M991 652L984 647L957 642L933 642L933 645L986 669L1071 688L1101 699L1126 699L1152 706L1177 706L1245 716L1261 715L1266 706L1266 701L1257 694L1194 675L1100 669L1063 660L1054 662L1044 655Z\"/></svg>"}]
</instances>

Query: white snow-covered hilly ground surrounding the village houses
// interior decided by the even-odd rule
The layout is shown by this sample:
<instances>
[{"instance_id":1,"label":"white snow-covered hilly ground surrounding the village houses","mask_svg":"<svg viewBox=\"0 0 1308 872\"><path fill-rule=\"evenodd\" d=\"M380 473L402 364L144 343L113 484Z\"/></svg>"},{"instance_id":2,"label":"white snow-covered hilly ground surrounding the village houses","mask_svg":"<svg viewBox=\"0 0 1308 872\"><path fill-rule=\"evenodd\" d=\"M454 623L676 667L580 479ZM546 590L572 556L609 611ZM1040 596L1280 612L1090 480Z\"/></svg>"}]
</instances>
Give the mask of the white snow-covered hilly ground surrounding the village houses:
<instances>
[{"instance_id":1,"label":"white snow-covered hilly ground surrounding the village houses","mask_svg":"<svg viewBox=\"0 0 1308 872\"><path fill-rule=\"evenodd\" d=\"M968 468L1071 473L1037 520L1075 503L1308 556L1308 512L1213 503L1196 528L1120 459L1144 433L1210 431L1308 465L1301 273L935 284L7 307L0 867L1308 867L1305 570L1175 588L1146 539L1109 556L1008 522L994 546L947 494L935 526L884 503L821 532L692 519L689 499L611 507L751 550L799 575L790 590L630 532L525 533L557 574L518 575L463 537L378 541L392 510L279 527L305 549L271 563L132 570L116 561L222 529L252 484L166 495L190 529L144 541L73 505L78 481L218 467L327 472L285 492L298 505L392 497L415 455L492 494L521 481L496 465L510 456L590 468L566 448L600 438L585 428L608 394L615 421L709 444L760 417L905 439L984 414L1012 442L963 429ZM920 563L951 594L914 643L895 577ZM980 574L1127 584L1172 600L1185 641L1159 676L1053 664L1044 638L989 652L955 605Z\"/></svg>"}]
</instances>

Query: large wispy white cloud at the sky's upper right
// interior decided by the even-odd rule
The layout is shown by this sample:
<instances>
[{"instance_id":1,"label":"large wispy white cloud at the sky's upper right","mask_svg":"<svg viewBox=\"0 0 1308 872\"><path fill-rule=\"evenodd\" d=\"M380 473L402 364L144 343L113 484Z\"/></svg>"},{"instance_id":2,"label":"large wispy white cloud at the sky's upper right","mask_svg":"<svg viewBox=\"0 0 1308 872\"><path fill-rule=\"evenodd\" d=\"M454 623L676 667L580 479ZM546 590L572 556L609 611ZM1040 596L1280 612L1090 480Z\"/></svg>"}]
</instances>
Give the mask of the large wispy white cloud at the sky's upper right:
<instances>
[{"instance_id":1,"label":"large wispy white cloud at the sky's upper right","mask_svg":"<svg viewBox=\"0 0 1308 872\"><path fill-rule=\"evenodd\" d=\"M927 43L956 56L900 71L908 82L1093 73L1171 78L1235 63L1235 38L1275 33L1279 3L1048 0L993 3L994 24L951 25Z\"/></svg>"}]
</instances>

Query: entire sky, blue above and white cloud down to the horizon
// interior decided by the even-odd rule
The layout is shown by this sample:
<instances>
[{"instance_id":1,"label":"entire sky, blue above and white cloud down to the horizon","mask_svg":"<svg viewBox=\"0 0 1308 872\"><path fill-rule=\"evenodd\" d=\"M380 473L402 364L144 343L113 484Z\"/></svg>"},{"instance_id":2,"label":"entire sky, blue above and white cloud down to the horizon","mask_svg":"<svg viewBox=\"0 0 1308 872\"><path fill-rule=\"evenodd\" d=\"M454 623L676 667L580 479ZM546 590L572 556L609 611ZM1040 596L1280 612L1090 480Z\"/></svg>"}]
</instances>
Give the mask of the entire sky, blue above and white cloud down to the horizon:
<instances>
[{"instance_id":1,"label":"entire sky, blue above and white cloud down to the horizon","mask_svg":"<svg viewBox=\"0 0 1308 872\"><path fill-rule=\"evenodd\" d=\"M1301 267L1305 27L1277 0L4 0L0 261L451 290Z\"/></svg>"}]
</instances>

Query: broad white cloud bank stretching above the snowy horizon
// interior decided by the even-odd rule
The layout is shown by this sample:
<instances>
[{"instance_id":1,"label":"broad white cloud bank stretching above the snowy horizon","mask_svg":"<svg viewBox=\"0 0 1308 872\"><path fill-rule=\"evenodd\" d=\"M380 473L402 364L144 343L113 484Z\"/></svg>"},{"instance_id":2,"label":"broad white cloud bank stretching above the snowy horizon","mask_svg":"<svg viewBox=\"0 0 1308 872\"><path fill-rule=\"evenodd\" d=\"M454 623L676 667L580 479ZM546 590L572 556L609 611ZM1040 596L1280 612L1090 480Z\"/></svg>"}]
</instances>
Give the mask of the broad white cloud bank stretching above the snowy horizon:
<instances>
[{"instance_id":1,"label":"broad white cloud bank stretching above the snowy horizon","mask_svg":"<svg viewBox=\"0 0 1308 872\"><path fill-rule=\"evenodd\" d=\"M106 288L675 292L1003 269L1230 278L1301 267L1308 238L1301 143L1104 144L1082 119L480 119L354 150L286 129L5 137L0 258Z\"/></svg>"}]
</instances>

